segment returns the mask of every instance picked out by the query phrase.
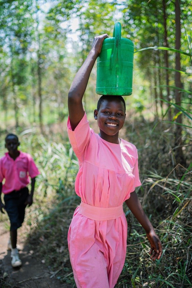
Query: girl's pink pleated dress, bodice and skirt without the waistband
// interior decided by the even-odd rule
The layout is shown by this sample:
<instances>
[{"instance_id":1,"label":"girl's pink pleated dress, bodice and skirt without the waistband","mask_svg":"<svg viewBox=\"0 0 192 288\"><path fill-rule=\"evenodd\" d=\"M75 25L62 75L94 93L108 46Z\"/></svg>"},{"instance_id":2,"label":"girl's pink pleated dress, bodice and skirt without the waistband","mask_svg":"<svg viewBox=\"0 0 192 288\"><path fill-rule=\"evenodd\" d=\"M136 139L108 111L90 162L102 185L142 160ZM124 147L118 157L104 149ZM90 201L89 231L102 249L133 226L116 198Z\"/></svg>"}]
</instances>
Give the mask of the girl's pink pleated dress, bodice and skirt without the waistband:
<instances>
[{"instance_id":1,"label":"girl's pink pleated dress, bodice and skirt without the waistband","mask_svg":"<svg viewBox=\"0 0 192 288\"><path fill-rule=\"evenodd\" d=\"M67 126L71 146L79 161L76 194L91 206L122 205L135 187L141 185L136 147L123 139L120 144L103 140L90 128L86 114L74 131L69 119ZM69 227L68 246L78 288L114 287L126 256L124 213L116 219L98 221L83 216L78 206Z\"/></svg>"}]
</instances>

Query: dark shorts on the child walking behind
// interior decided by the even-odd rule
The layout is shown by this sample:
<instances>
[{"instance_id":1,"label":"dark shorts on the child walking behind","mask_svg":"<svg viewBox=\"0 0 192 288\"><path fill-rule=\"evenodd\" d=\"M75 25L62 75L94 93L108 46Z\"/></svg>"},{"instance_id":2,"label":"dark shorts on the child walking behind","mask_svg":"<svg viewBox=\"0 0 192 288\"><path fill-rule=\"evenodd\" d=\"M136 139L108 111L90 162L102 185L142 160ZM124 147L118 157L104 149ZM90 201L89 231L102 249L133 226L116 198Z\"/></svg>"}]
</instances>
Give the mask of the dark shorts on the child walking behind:
<instances>
[{"instance_id":1,"label":"dark shorts on the child walking behind","mask_svg":"<svg viewBox=\"0 0 192 288\"><path fill-rule=\"evenodd\" d=\"M25 217L24 204L29 195L27 187L22 188L19 191L13 191L4 195L5 209L10 219L10 231L17 230L21 227Z\"/></svg>"}]
</instances>

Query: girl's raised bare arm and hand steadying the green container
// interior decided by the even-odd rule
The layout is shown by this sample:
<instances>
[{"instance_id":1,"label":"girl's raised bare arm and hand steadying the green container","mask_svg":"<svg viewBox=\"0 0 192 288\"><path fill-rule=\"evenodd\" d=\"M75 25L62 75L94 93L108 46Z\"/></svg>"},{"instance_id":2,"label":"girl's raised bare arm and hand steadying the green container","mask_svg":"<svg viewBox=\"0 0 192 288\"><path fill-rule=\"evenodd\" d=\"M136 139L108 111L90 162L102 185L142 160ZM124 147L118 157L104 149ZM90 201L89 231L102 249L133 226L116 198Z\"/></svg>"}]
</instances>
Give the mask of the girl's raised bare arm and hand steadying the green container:
<instances>
[{"instance_id":1,"label":"girl's raised bare arm and hand steadying the green container","mask_svg":"<svg viewBox=\"0 0 192 288\"><path fill-rule=\"evenodd\" d=\"M68 109L72 130L75 130L84 116L85 111L82 104L83 94L85 93L94 63L101 52L103 40L107 37L107 34L103 34L94 38L91 51L71 84L68 94Z\"/></svg>"}]
</instances>

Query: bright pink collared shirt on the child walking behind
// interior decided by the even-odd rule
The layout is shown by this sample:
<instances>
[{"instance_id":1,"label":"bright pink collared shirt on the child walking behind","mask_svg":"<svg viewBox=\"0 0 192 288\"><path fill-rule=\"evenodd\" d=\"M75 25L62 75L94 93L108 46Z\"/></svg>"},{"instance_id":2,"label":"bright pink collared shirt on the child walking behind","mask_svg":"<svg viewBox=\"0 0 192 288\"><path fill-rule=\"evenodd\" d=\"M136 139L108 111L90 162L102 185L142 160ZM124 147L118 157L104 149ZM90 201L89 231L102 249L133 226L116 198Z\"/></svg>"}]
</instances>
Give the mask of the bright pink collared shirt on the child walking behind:
<instances>
[{"instance_id":1,"label":"bright pink collared shirt on the child walking behind","mask_svg":"<svg viewBox=\"0 0 192 288\"><path fill-rule=\"evenodd\" d=\"M26 187L29 183L28 176L34 178L40 174L31 155L19 152L20 155L15 160L8 152L0 159L0 183L5 179L2 187L4 194Z\"/></svg>"}]
</instances>

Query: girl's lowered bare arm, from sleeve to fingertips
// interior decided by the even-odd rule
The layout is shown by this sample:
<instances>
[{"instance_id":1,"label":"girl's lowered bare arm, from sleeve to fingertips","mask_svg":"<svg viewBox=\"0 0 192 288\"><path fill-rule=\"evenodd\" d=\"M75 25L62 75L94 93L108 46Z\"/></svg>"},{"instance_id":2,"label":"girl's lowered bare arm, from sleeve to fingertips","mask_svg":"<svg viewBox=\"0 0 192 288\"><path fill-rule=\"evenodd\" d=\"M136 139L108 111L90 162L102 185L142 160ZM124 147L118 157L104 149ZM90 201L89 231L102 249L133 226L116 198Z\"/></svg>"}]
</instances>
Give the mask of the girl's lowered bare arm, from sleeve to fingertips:
<instances>
[{"instance_id":1,"label":"girl's lowered bare arm, from sleeve to fingertips","mask_svg":"<svg viewBox=\"0 0 192 288\"><path fill-rule=\"evenodd\" d=\"M151 249L149 251L149 254L151 255L151 259L154 261L156 259L160 259L161 254L162 254L162 247L161 247L161 241L159 240L159 237L155 233L155 230L147 218L141 203L138 199L138 196L136 192L132 192L130 194L130 198L125 201L133 215L136 217L136 219L139 221L141 226L145 229L147 238L150 242Z\"/></svg>"}]
</instances>

